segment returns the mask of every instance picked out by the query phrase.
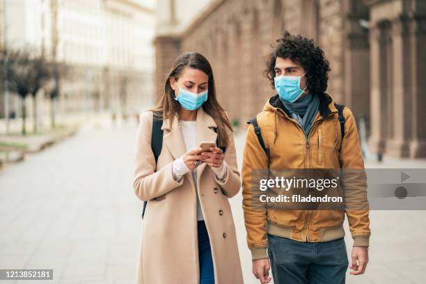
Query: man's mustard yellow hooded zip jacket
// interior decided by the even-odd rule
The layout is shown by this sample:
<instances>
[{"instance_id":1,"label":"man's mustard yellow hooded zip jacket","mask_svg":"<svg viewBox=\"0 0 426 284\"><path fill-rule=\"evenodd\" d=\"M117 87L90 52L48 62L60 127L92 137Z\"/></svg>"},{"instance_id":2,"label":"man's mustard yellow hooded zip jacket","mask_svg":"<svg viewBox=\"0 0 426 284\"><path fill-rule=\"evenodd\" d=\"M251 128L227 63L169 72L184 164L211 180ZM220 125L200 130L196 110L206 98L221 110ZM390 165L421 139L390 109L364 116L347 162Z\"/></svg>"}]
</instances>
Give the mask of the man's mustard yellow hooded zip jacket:
<instances>
[{"instance_id":1,"label":"man's mustard yellow hooded zip jacket","mask_svg":"<svg viewBox=\"0 0 426 284\"><path fill-rule=\"evenodd\" d=\"M308 141L303 128L285 109L278 95L270 97L257 120L269 159L260 146L253 125L248 125L242 164L243 210L248 248L252 259L268 258L267 234L300 242L327 242L345 236L345 213L354 246L368 246L370 238L367 184L358 179L345 186L346 202L356 202L356 210L258 210L251 206L252 170L269 168L342 168L363 171L364 162L352 111L345 107L345 134L341 139L338 110L333 98L320 96Z\"/></svg>"}]
</instances>

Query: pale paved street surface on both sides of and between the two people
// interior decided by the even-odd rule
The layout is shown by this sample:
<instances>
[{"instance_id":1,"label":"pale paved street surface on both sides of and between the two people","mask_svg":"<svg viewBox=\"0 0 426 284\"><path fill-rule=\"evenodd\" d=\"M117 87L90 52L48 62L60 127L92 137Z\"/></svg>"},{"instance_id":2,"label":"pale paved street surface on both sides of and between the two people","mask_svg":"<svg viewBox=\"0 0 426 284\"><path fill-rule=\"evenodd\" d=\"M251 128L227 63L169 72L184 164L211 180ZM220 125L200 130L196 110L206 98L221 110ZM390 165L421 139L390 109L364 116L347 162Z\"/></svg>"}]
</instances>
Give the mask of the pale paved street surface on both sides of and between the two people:
<instances>
[{"instance_id":1,"label":"pale paved street surface on both sides of and between the two people","mask_svg":"<svg viewBox=\"0 0 426 284\"><path fill-rule=\"evenodd\" d=\"M90 123L0 171L1 269L54 269L49 283L134 283L142 224L142 202L132 188L136 127L136 120ZM240 165L244 135L235 137ZM422 165L386 162L395 168ZM251 274L241 194L230 202L244 283L258 283ZM372 211L370 219L370 263L363 276L348 272L347 283L424 283L425 212ZM350 258L347 226L346 232Z\"/></svg>"}]
</instances>

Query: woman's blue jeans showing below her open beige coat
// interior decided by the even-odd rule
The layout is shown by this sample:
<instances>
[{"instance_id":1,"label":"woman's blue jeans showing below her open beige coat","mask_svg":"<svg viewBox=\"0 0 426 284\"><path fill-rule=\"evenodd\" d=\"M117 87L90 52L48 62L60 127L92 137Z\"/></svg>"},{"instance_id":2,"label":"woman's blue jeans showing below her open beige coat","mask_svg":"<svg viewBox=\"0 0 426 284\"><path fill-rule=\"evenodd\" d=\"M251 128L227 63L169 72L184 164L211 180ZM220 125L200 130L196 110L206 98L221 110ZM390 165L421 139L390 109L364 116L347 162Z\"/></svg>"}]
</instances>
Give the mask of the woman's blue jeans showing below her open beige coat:
<instances>
[{"instance_id":1,"label":"woman's blue jeans showing below her open beige coat","mask_svg":"<svg viewBox=\"0 0 426 284\"><path fill-rule=\"evenodd\" d=\"M209 234L203 220L197 222L198 260L200 262L200 284L214 284L212 249Z\"/></svg>"}]
</instances>

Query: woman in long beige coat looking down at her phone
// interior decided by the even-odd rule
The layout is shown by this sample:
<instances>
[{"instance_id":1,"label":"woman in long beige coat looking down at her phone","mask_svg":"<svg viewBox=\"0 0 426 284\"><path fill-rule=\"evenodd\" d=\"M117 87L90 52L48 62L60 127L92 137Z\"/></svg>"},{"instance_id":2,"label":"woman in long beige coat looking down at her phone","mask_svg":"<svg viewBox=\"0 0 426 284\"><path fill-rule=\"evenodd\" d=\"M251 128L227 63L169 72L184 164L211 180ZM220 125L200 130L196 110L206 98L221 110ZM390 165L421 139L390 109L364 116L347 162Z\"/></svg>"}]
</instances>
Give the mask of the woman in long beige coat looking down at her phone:
<instances>
[{"instance_id":1,"label":"woman in long beige coat looking down at her phone","mask_svg":"<svg viewBox=\"0 0 426 284\"><path fill-rule=\"evenodd\" d=\"M157 163L153 116L163 130ZM217 145L203 152L202 141ZM159 106L140 116L133 187L148 203L136 282L243 283L228 202L240 186L232 126L216 100L210 63L195 52L181 54Z\"/></svg>"}]
</instances>

